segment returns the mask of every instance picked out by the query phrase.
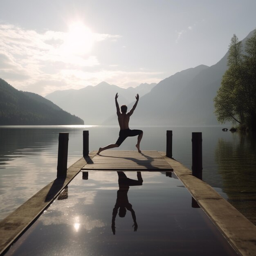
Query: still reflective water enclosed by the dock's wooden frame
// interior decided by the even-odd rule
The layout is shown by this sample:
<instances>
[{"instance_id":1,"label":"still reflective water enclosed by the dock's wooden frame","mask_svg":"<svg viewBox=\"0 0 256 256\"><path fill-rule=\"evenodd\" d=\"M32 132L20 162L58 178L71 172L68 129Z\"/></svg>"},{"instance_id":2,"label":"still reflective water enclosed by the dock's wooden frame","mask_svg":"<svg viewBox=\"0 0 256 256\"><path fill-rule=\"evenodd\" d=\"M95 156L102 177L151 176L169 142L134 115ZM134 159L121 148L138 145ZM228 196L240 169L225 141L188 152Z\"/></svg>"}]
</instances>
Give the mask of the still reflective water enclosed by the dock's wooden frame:
<instances>
[{"instance_id":1,"label":"still reflective water enclosed by the dock's wooden frame","mask_svg":"<svg viewBox=\"0 0 256 256\"><path fill-rule=\"evenodd\" d=\"M35 255L238 256L175 174L149 171L76 175L4 254Z\"/></svg>"}]
</instances>

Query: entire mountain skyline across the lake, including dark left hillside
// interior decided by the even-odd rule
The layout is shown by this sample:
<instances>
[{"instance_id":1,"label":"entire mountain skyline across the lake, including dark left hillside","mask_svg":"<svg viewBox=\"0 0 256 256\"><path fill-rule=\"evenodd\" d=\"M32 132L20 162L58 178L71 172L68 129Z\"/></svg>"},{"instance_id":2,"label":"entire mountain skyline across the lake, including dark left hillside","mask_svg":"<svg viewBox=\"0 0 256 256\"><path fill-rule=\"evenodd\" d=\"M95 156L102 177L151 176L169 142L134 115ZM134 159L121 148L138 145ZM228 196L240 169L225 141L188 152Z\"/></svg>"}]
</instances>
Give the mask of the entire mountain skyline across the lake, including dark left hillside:
<instances>
[{"instance_id":1,"label":"entire mountain skyline across the lake, including dark left hillside","mask_svg":"<svg viewBox=\"0 0 256 256\"><path fill-rule=\"evenodd\" d=\"M242 40L243 48L253 33ZM0 125L117 125L116 93L119 106L126 104L128 110L135 95L140 96L131 125L216 125L213 98L227 70L228 54L211 67L189 68L158 84L124 89L101 82L80 90L55 91L45 98L18 91L0 79Z\"/></svg>"}]
</instances>

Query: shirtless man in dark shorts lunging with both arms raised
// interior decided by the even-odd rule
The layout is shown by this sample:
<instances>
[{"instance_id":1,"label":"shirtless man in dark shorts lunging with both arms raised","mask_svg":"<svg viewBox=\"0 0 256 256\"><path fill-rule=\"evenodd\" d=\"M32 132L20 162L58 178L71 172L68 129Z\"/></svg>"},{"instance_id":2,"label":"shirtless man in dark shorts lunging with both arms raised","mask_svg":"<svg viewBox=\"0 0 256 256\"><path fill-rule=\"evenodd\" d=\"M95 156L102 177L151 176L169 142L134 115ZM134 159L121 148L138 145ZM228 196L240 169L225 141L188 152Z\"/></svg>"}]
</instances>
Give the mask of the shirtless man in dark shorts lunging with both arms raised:
<instances>
[{"instance_id":1,"label":"shirtless man in dark shorts lunging with both arms raised","mask_svg":"<svg viewBox=\"0 0 256 256\"><path fill-rule=\"evenodd\" d=\"M119 138L117 139L117 142L115 144L109 144L108 146L106 146L104 148L99 148L97 155L99 155L101 153L101 151L103 151L103 150L110 149L110 148L117 148L123 143L123 141L127 137L132 137L132 136L137 136L137 135L138 135L138 141L136 144L136 148L138 149L138 152L141 153L141 150L139 149L139 144L142 139L143 131L142 130L130 130L130 128L129 128L130 116L132 115L133 111L135 110L135 108L137 106L137 103L139 101L139 94L137 94L137 96L135 96L136 102L135 102L134 106L132 107L132 109L127 114L126 114L126 112L127 112L126 105L121 106L121 112L120 112L119 105L117 102L117 97L118 97L118 95L116 94L115 102L116 102L116 107L117 107L118 123L120 126Z\"/></svg>"}]
</instances>

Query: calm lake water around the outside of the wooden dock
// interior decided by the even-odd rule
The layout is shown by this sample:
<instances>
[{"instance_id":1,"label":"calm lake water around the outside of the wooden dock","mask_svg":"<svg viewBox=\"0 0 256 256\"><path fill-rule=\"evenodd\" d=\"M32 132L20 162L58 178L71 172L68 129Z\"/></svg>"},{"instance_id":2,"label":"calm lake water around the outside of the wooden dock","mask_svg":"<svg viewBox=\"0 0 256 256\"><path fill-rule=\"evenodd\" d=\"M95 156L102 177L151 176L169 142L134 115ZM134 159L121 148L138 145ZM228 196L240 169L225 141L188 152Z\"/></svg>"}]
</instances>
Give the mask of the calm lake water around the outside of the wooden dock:
<instances>
[{"instance_id":1,"label":"calm lake water around the outside of the wooden dock","mask_svg":"<svg viewBox=\"0 0 256 256\"><path fill-rule=\"evenodd\" d=\"M137 127L144 130L141 150L166 150L173 131L173 157L191 169L191 133L202 132L203 180L256 224L256 136L222 132L222 127ZM0 219L56 178L58 134L69 132L68 166L82 156L83 130L89 150L115 143L118 126L1 126ZM135 150L136 137L119 150Z\"/></svg>"}]
</instances>

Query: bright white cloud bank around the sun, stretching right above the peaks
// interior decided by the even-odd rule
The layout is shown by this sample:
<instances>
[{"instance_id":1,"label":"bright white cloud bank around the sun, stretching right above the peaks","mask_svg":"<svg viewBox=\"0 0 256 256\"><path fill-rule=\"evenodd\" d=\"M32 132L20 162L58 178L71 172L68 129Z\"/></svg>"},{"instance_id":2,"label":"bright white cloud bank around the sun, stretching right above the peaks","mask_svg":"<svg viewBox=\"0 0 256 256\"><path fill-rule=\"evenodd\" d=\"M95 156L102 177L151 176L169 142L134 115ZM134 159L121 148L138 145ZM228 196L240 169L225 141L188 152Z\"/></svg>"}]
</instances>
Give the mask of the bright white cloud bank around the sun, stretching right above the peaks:
<instances>
[{"instance_id":1,"label":"bright white cloud bank around the sun, stretching right above the peaks","mask_svg":"<svg viewBox=\"0 0 256 256\"><path fill-rule=\"evenodd\" d=\"M104 40L115 42L121 37L99 33L91 33L90 36L94 43ZM0 24L0 77L18 90L43 96L55 90L94 86L101 81L127 88L160 80L159 72L122 71L119 65L108 63L104 67L99 62L100 56L86 52L80 54L73 52L72 47L66 47L66 38L67 33L60 31L38 33Z\"/></svg>"}]
</instances>

